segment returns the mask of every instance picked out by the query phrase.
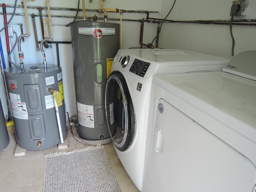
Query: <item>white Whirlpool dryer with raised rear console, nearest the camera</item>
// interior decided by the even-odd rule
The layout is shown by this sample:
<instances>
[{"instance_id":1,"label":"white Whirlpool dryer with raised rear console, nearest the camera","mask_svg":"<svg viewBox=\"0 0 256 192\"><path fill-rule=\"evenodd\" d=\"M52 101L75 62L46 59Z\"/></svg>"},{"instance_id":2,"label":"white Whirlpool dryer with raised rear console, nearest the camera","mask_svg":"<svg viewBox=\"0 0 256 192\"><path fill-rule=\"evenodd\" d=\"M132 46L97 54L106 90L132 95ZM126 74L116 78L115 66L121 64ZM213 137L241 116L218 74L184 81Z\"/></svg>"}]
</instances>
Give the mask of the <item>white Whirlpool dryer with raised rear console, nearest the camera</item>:
<instances>
[{"instance_id":1,"label":"white Whirlpool dryer with raised rear console, nearest the camera","mask_svg":"<svg viewBox=\"0 0 256 192\"><path fill-rule=\"evenodd\" d=\"M143 192L256 191L255 62L154 77Z\"/></svg>"}]
</instances>

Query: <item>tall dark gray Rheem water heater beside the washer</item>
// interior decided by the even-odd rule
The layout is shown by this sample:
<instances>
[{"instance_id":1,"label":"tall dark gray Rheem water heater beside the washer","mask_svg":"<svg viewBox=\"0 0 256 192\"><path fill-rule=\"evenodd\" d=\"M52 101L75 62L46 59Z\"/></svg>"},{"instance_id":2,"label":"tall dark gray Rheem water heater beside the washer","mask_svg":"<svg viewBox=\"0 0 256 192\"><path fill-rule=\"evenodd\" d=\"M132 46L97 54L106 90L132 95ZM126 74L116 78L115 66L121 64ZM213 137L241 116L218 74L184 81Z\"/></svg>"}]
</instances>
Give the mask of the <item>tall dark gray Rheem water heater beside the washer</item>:
<instances>
[{"instance_id":1,"label":"tall dark gray Rheem water heater beside the washer","mask_svg":"<svg viewBox=\"0 0 256 192\"><path fill-rule=\"evenodd\" d=\"M112 61L120 47L120 25L78 21L70 29L78 134L84 140L110 142L104 95Z\"/></svg>"}]
</instances>

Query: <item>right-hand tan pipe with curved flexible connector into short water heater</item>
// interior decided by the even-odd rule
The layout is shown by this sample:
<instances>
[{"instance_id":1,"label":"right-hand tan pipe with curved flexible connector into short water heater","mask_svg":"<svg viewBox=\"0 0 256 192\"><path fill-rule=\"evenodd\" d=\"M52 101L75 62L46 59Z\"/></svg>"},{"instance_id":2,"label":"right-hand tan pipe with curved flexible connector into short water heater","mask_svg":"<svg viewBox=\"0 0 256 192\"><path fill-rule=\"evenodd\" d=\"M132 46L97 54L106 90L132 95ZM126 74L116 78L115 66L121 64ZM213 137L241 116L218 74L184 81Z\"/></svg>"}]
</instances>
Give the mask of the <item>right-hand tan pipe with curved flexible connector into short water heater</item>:
<instances>
[{"instance_id":1,"label":"right-hand tan pipe with curved flexible connector into short water heater","mask_svg":"<svg viewBox=\"0 0 256 192\"><path fill-rule=\"evenodd\" d=\"M53 41L53 33L52 33L52 18L51 18L51 13L50 13L50 5L49 5L50 0L46 0L46 4L47 4L47 10L48 10L48 18L44 18L43 19L43 26L44 26L44 39L41 41L40 43L40 50L42 52L42 56L43 56L43 64L44 64L44 68L47 68L47 62L46 62L46 56L45 56L45 52L43 49L43 44L44 42L49 42L49 41ZM46 32L46 22L49 22L49 28L50 28L50 38L48 38L47 36L47 32Z\"/></svg>"}]
</instances>

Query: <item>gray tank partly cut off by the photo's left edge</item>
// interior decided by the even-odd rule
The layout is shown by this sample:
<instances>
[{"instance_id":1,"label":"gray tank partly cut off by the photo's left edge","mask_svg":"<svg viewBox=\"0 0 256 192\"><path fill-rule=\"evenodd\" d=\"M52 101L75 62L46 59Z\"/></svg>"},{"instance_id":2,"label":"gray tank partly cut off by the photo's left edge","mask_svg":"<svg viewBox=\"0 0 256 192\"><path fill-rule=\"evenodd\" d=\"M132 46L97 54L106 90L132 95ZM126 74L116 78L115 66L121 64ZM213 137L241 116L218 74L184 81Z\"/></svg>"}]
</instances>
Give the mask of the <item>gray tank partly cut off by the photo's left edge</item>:
<instances>
[{"instance_id":1,"label":"gray tank partly cut off by the photo's left edge","mask_svg":"<svg viewBox=\"0 0 256 192\"><path fill-rule=\"evenodd\" d=\"M4 112L0 100L0 152L8 146L9 141L9 135L6 127L6 122L4 119Z\"/></svg>"}]
</instances>

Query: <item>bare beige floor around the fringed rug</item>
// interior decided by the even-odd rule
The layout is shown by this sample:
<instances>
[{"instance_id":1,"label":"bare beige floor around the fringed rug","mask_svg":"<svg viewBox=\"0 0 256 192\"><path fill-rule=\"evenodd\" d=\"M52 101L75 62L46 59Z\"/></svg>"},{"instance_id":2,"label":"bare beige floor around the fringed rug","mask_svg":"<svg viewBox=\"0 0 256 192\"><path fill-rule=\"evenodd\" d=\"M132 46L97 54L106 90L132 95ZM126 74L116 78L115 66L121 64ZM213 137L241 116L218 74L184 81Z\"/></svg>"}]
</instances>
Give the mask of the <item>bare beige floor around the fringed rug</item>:
<instances>
[{"instance_id":1,"label":"bare beige floor around the fringed rug","mask_svg":"<svg viewBox=\"0 0 256 192\"><path fill-rule=\"evenodd\" d=\"M0 152L0 192L42 192L44 179L44 155L60 151L58 146L44 150L26 150L26 155L14 157L16 148L15 134L9 134L10 143ZM122 192L138 192L124 170L113 144L105 144L105 150ZM68 148L71 151L86 145L76 141L69 128Z\"/></svg>"}]
</instances>

